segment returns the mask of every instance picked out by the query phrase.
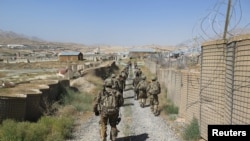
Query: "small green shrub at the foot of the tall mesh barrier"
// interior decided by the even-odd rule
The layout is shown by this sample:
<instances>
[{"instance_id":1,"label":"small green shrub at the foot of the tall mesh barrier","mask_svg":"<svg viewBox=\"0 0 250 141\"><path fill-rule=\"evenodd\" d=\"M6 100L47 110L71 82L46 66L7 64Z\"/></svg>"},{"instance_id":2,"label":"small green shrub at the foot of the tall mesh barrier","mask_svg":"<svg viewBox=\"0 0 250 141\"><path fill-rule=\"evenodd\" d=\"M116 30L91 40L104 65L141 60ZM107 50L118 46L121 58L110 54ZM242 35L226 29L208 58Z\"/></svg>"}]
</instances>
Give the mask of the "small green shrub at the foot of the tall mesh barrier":
<instances>
[{"instance_id":1,"label":"small green shrub at the foot of the tall mesh barrier","mask_svg":"<svg viewBox=\"0 0 250 141\"><path fill-rule=\"evenodd\" d=\"M183 139L186 141L197 141L200 138L199 123L193 118L191 123L184 128Z\"/></svg>"}]
</instances>

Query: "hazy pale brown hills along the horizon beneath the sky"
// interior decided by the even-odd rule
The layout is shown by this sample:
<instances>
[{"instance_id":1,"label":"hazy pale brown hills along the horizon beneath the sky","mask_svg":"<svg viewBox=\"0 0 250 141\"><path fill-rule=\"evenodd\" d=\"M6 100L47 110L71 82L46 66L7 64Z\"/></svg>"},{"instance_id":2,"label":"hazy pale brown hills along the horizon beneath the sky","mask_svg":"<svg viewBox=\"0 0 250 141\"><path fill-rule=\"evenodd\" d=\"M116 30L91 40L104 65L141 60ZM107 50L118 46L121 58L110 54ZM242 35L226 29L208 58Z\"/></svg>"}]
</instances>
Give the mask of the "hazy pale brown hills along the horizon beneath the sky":
<instances>
[{"instance_id":1,"label":"hazy pale brown hills along the horizon beneath the sky","mask_svg":"<svg viewBox=\"0 0 250 141\"><path fill-rule=\"evenodd\" d=\"M63 43L63 42L49 42L42 40L38 37L29 37L23 34L18 34L13 31L4 31L0 29L0 45L7 45L7 44L20 44L26 45L31 47L41 47L41 46L48 46L48 47L62 47L66 50L78 50L82 52L89 52L93 51L96 48L100 48L101 52L105 53L115 53L115 52L127 52L128 48L131 47L124 47L124 46L112 46L112 45L84 45L84 44L77 44L77 43ZM144 45L141 46L142 48L153 48L157 50L169 50L173 49L173 46L161 46L161 45Z\"/></svg>"}]
</instances>

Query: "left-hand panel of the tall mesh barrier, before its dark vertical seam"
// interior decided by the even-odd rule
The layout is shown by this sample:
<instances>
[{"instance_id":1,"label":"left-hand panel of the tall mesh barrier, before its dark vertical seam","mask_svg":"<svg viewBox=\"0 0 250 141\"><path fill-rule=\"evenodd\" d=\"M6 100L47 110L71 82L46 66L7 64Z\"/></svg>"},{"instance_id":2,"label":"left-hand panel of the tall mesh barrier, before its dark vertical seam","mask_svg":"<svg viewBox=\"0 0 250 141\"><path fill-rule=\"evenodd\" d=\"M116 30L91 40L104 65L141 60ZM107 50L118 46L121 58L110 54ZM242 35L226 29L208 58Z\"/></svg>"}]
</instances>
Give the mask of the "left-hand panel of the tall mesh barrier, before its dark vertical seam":
<instances>
[{"instance_id":1,"label":"left-hand panel of the tall mesh barrier, before its dark vertical seam","mask_svg":"<svg viewBox=\"0 0 250 141\"><path fill-rule=\"evenodd\" d=\"M208 124L223 124L225 105L225 49L223 40L202 45L201 136L207 139Z\"/></svg>"}]
</instances>

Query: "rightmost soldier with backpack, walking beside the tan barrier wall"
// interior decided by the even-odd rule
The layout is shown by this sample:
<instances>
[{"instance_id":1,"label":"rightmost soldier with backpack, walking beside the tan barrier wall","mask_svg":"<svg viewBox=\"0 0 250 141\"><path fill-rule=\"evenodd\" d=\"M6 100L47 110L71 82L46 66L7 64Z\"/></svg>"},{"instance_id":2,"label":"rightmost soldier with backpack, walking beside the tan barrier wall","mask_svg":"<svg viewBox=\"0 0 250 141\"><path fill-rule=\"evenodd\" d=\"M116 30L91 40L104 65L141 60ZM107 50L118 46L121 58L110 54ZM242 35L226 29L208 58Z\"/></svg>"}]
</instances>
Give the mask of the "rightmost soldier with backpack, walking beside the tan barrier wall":
<instances>
[{"instance_id":1,"label":"rightmost soldier with backpack, walking beside the tan barrier wall","mask_svg":"<svg viewBox=\"0 0 250 141\"><path fill-rule=\"evenodd\" d=\"M148 92L149 97L150 97L150 109L151 109L152 113L155 116L157 116L159 114L159 111L158 111L158 105L159 105L158 94L161 93L161 85L157 81L156 76L152 77L152 81L150 82L150 84L147 87L147 92Z\"/></svg>"}]
</instances>

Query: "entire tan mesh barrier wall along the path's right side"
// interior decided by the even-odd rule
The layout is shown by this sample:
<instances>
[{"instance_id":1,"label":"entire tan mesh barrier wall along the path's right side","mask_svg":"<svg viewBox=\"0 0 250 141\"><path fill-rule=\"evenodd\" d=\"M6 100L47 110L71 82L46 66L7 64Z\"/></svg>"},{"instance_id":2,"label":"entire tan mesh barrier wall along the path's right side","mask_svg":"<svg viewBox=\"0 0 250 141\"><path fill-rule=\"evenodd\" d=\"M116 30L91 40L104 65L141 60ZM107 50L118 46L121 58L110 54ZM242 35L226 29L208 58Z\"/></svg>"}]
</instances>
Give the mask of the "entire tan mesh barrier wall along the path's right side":
<instances>
[{"instance_id":1,"label":"entire tan mesh barrier wall along the path's right side","mask_svg":"<svg viewBox=\"0 0 250 141\"><path fill-rule=\"evenodd\" d=\"M250 124L250 34L205 42L201 48L200 72L150 70L168 89L179 116L186 123L196 117L200 136L207 140L208 125ZM148 68L156 66L146 61Z\"/></svg>"}]
</instances>

